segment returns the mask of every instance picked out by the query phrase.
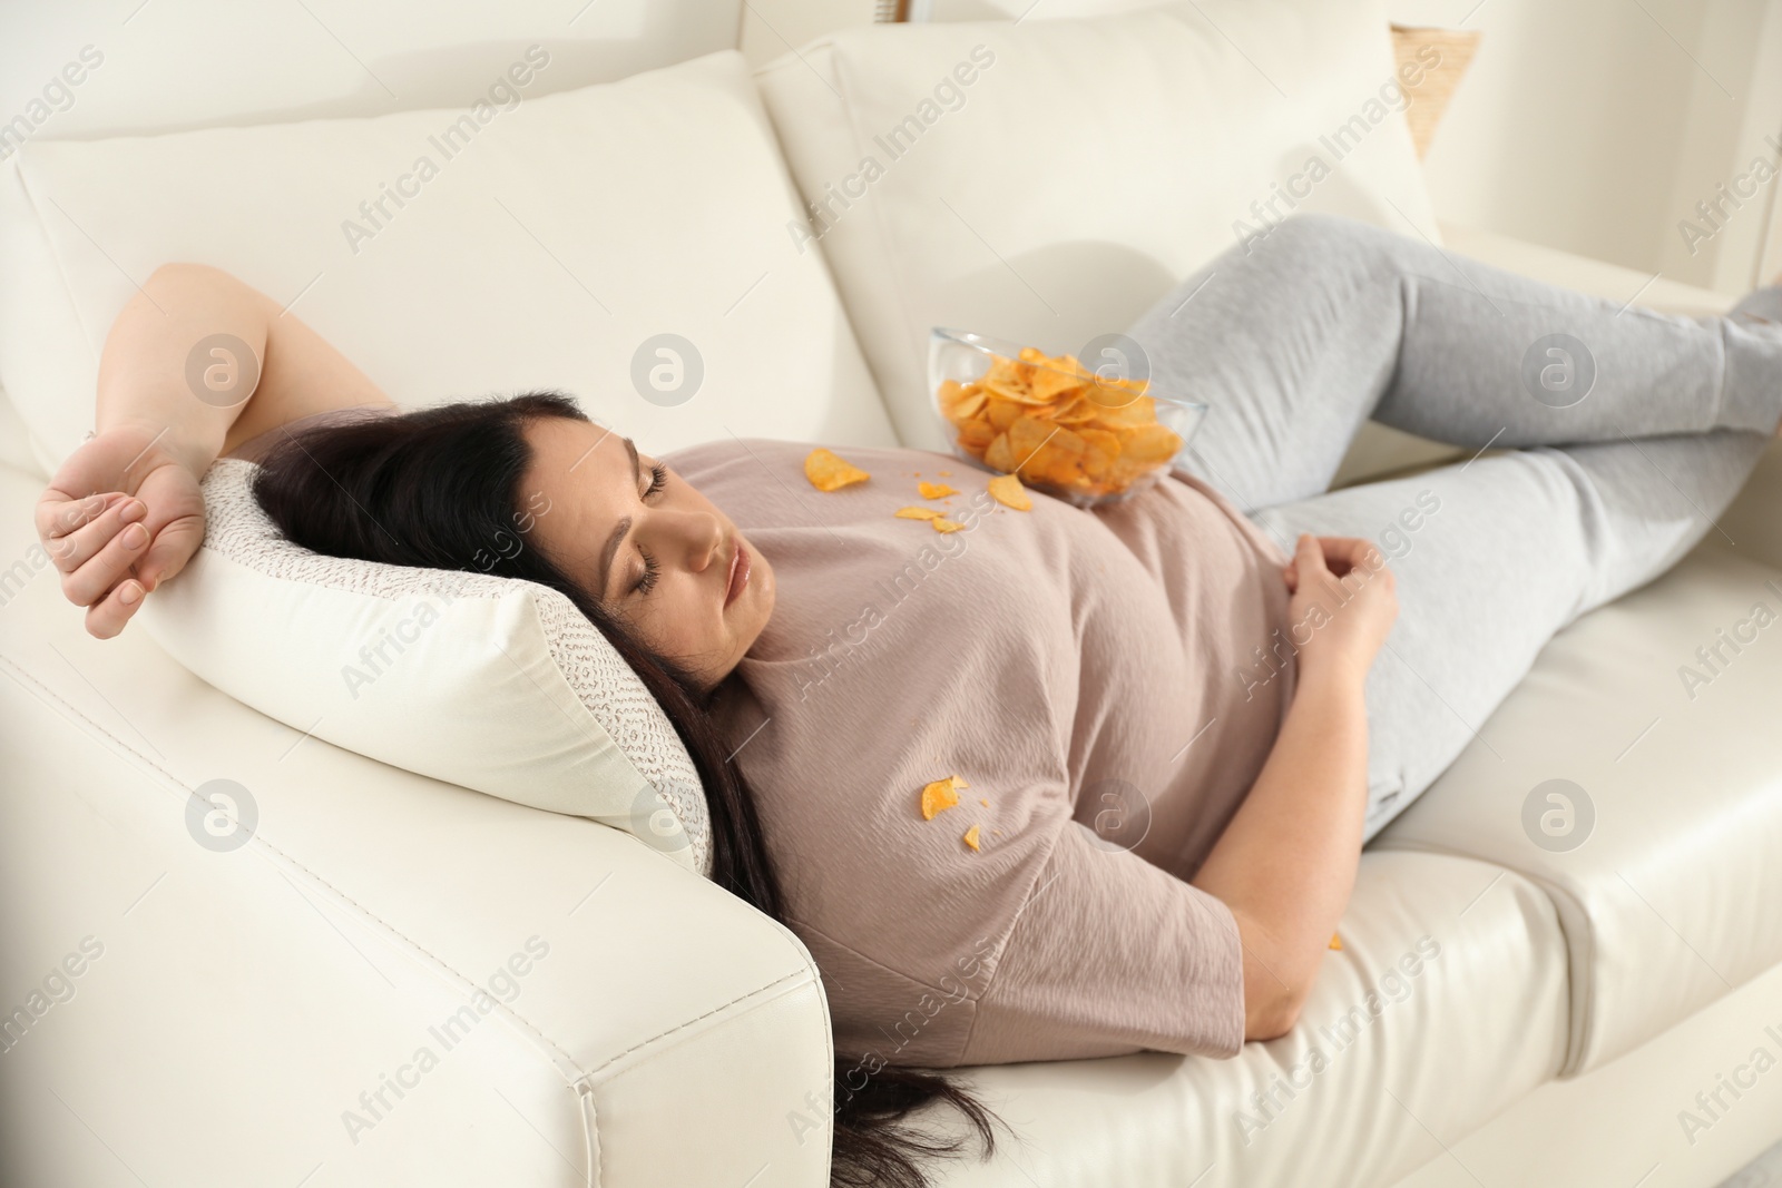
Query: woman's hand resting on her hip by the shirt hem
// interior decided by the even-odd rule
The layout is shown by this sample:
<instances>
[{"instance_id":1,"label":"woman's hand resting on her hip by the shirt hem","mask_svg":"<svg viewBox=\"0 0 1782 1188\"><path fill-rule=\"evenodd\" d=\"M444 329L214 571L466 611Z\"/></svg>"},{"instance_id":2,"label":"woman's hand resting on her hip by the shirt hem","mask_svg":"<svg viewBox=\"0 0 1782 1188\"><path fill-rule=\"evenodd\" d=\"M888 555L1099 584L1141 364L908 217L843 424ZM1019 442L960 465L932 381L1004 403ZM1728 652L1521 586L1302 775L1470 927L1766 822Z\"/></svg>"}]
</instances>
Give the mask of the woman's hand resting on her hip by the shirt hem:
<instances>
[{"instance_id":1,"label":"woman's hand resting on her hip by the shirt hem","mask_svg":"<svg viewBox=\"0 0 1782 1188\"><path fill-rule=\"evenodd\" d=\"M1301 534L1285 577L1292 591L1288 636L1301 671L1360 684L1399 616L1385 556L1369 540Z\"/></svg>"}]
</instances>

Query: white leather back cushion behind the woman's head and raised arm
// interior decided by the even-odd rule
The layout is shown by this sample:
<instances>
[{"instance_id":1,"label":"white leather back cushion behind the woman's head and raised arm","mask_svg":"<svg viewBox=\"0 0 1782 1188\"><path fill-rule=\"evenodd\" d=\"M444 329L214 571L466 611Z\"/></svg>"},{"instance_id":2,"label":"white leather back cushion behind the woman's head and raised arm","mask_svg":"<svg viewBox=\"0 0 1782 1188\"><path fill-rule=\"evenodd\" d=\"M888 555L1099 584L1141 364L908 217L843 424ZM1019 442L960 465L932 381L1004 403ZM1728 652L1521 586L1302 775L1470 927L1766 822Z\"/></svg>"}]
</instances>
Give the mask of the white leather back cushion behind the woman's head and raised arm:
<instances>
[{"instance_id":1,"label":"white leather back cushion behind the woman's head and raised arm","mask_svg":"<svg viewBox=\"0 0 1782 1188\"><path fill-rule=\"evenodd\" d=\"M168 260L290 303L406 406L565 388L654 451L893 443L822 258L786 239L741 55L531 98L545 59L508 107L25 144L0 166L0 381L45 461L93 427L105 333Z\"/></svg>"}]
</instances>

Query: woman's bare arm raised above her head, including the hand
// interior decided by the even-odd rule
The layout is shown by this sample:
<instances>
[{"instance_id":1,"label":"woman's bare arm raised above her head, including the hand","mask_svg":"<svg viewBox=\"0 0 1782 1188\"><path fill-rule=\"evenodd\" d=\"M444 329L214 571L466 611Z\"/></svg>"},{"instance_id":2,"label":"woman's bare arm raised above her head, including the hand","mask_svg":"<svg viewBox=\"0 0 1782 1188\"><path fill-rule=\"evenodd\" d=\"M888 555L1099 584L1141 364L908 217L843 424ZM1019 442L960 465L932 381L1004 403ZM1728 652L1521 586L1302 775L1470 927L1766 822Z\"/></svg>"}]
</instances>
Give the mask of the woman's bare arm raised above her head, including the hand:
<instances>
[{"instance_id":1,"label":"woman's bare arm raised above her head, including the hand","mask_svg":"<svg viewBox=\"0 0 1782 1188\"><path fill-rule=\"evenodd\" d=\"M37 536L87 631L116 636L198 552L212 461L356 404L390 399L271 297L200 264L155 269L105 337L94 436L37 500Z\"/></svg>"}]
</instances>

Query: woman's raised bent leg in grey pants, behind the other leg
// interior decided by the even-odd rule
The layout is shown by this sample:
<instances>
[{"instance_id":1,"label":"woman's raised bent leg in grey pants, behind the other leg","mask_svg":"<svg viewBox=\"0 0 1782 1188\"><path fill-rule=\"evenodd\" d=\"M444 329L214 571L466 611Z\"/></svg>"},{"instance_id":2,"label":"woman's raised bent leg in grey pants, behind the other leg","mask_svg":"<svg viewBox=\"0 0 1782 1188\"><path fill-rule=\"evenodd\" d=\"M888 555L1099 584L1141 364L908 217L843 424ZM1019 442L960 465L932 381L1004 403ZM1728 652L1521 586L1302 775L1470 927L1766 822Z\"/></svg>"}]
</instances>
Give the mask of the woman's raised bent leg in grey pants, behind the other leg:
<instances>
[{"instance_id":1,"label":"woman's raised bent leg in grey pants, behind the other leg","mask_svg":"<svg viewBox=\"0 0 1782 1188\"><path fill-rule=\"evenodd\" d=\"M1160 394L1212 404L1189 468L1246 511L1329 486L1369 417L1483 449L1778 417L1782 290L1734 317L1586 297L1331 216L1233 248L1128 333Z\"/></svg>"}]
</instances>

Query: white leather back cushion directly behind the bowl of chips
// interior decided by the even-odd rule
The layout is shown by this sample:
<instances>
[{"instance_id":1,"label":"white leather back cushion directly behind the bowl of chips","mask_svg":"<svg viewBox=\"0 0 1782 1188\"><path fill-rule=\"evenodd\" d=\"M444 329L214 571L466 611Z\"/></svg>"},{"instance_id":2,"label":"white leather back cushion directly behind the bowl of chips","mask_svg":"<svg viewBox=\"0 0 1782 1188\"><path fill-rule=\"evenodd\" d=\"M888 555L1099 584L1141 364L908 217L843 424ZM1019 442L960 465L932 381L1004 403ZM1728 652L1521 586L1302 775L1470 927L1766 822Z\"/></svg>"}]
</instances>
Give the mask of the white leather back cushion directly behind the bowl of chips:
<instances>
[{"instance_id":1,"label":"white leather back cushion directly behind the bowl of chips","mask_svg":"<svg viewBox=\"0 0 1782 1188\"><path fill-rule=\"evenodd\" d=\"M756 78L816 207L782 233L903 443L944 449L932 326L1078 354L1292 210L1438 239L1394 71L1376 0L1205 0L845 30Z\"/></svg>"}]
</instances>

